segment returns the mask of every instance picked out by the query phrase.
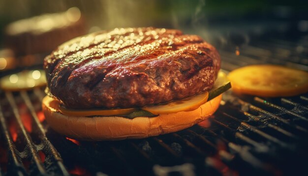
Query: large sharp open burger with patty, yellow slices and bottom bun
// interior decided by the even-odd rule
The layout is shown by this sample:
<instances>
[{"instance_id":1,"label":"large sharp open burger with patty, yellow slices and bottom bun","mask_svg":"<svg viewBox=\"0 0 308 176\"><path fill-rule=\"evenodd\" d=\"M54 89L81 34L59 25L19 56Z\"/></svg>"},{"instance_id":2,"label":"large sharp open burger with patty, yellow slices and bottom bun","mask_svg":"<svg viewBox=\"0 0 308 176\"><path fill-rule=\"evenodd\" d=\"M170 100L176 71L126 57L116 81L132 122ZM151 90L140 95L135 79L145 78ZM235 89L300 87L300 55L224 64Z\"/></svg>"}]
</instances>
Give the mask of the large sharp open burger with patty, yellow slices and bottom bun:
<instances>
[{"instance_id":1,"label":"large sharp open burger with patty, yellow slices and bottom bun","mask_svg":"<svg viewBox=\"0 0 308 176\"><path fill-rule=\"evenodd\" d=\"M139 139L214 114L230 88L216 49L176 29L99 31L44 59L42 108L57 132L86 141Z\"/></svg>"}]
</instances>

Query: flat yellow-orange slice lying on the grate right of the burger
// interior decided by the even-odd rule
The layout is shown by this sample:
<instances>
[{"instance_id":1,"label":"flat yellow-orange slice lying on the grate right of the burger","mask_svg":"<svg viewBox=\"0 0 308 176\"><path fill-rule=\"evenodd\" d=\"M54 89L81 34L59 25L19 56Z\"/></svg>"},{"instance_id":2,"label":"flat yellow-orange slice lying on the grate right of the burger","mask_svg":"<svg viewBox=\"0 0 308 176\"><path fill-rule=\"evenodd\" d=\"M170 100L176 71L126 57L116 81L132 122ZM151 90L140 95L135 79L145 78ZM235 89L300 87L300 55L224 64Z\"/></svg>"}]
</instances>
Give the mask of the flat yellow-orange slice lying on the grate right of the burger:
<instances>
[{"instance_id":1,"label":"flat yellow-orange slice lying on the grate right of the burger","mask_svg":"<svg viewBox=\"0 0 308 176\"><path fill-rule=\"evenodd\" d=\"M236 93L263 97L295 96L308 92L308 72L278 65L249 65L228 75Z\"/></svg>"}]
</instances>

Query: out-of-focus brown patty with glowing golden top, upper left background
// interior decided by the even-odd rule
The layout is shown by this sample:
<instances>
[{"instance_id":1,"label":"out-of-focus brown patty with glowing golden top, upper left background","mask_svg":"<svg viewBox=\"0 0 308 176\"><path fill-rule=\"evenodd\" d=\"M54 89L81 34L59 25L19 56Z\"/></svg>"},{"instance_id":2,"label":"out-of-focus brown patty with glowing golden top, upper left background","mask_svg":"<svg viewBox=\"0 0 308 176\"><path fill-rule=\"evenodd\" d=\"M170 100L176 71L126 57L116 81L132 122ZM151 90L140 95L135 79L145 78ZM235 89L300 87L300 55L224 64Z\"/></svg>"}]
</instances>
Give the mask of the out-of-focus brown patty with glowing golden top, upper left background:
<instances>
[{"instance_id":1,"label":"out-of-focus brown patty with glowing golden top, upper left background","mask_svg":"<svg viewBox=\"0 0 308 176\"><path fill-rule=\"evenodd\" d=\"M86 33L80 10L42 14L18 20L5 28L4 45L17 55L51 52L61 43Z\"/></svg>"}]
</instances>

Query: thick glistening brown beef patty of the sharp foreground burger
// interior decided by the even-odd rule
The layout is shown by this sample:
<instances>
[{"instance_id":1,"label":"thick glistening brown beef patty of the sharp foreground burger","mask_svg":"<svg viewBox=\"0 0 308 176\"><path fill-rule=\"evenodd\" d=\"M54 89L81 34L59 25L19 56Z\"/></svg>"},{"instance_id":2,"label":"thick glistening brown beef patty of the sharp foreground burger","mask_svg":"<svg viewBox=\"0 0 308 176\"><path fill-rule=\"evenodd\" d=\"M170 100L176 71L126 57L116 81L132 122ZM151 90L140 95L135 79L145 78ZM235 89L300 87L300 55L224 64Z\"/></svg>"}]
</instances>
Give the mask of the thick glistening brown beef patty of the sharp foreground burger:
<instances>
[{"instance_id":1,"label":"thick glistening brown beef patty of the sharp foreground burger","mask_svg":"<svg viewBox=\"0 0 308 176\"><path fill-rule=\"evenodd\" d=\"M67 108L128 108L212 88L220 57L197 35L128 28L70 40L44 59L44 68L50 92Z\"/></svg>"}]
</instances>

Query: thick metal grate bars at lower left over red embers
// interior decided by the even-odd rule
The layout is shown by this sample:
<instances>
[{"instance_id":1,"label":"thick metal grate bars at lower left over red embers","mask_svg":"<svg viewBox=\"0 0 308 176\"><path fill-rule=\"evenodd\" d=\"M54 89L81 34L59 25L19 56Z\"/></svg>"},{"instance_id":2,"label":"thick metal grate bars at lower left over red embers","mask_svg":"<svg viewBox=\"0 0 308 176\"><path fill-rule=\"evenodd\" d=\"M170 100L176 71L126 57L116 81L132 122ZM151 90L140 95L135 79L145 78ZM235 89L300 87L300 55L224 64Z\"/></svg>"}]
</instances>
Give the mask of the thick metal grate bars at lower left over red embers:
<instances>
[{"instance_id":1,"label":"thick metal grate bars at lower left over red embers","mask_svg":"<svg viewBox=\"0 0 308 176\"><path fill-rule=\"evenodd\" d=\"M34 92L37 91L38 90L35 90ZM61 175L69 175L62 163L62 158L60 157L59 153L46 138L45 129L43 128L36 115L28 93L26 91L21 91L19 93L20 94L18 97L22 98L24 105L26 105L28 108L28 113L31 115L31 119L33 120L33 123L28 124L27 126L31 125L31 128L35 127L36 130L35 132L33 131L33 134L29 133L29 129L26 130L25 122L22 120L20 108L18 108L16 102L17 98L15 98L11 92L4 92L4 100L7 100L7 102L4 101L4 103L8 103L13 114L13 116L4 117L4 112L2 109L0 109L1 129L3 134L5 134L5 140L8 146L9 162L6 166L8 171L7 174L27 175L30 168L30 173L33 175L46 175L46 169L48 169L50 167L49 164L51 164L57 165L57 168L59 169L59 171L53 172L59 173ZM40 94L42 93L40 92ZM41 95L39 97L41 100ZM10 130L7 125L8 121L12 120L17 122L17 124L15 124L16 128L14 130ZM10 128L13 129L14 127L12 126L12 123L10 124ZM40 143L34 144L34 142L31 140L31 135L35 135L37 138L39 138ZM19 141L17 141L16 137ZM23 147L23 149L19 150L15 144L17 144L18 147ZM41 154L39 154L39 152L41 152ZM43 165L40 155L44 155L46 157L46 167ZM27 163L27 161L30 161L30 163ZM26 168L28 164L30 164L29 168Z\"/></svg>"}]
</instances>

